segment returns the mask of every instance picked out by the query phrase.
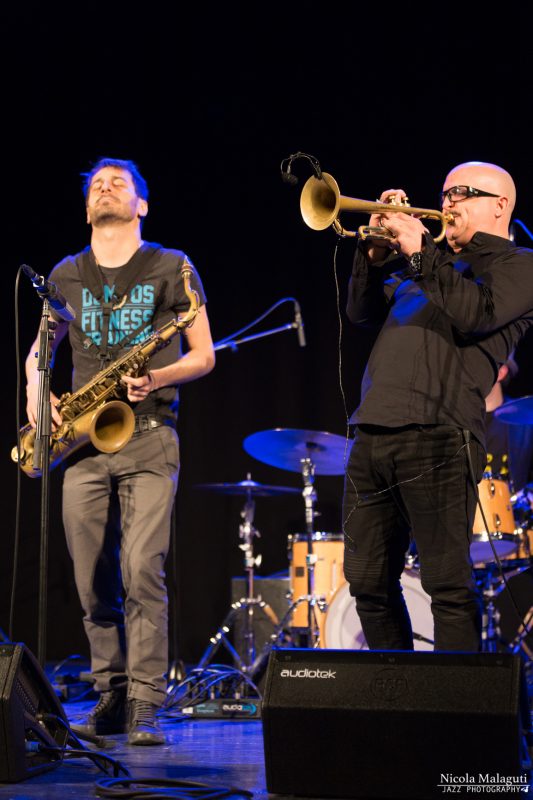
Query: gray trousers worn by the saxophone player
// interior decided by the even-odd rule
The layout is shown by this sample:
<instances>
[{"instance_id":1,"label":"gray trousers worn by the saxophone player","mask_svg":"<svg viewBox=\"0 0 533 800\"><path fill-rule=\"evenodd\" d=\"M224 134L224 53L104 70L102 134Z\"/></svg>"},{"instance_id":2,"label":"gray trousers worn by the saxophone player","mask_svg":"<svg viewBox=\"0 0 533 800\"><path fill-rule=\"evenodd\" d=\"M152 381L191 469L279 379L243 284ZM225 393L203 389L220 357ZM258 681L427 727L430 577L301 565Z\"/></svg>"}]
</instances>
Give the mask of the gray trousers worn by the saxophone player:
<instances>
[{"instance_id":1,"label":"gray trousers worn by the saxophone player","mask_svg":"<svg viewBox=\"0 0 533 800\"><path fill-rule=\"evenodd\" d=\"M168 669L164 563L177 489L176 432L136 433L65 472L63 522L97 691L161 705Z\"/></svg>"}]
</instances>

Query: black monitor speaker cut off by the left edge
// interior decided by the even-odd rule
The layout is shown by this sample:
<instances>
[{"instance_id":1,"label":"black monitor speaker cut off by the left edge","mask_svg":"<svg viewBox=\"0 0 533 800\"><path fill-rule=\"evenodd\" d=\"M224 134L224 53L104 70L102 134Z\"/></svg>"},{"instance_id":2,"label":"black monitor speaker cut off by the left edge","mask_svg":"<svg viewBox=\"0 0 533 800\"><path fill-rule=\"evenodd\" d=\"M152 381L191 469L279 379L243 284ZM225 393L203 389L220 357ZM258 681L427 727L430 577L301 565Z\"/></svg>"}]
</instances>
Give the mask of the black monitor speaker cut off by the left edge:
<instances>
[{"instance_id":1,"label":"black monitor speaker cut off by the left edge","mask_svg":"<svg viewBox=\"0 0 533 800\"><path fill-rule=\"evenodd\" d=\"M66 726L66 727L65 727ZM24 644L0 645L0 782L55 767L68 719L48 678Z\"/></svg>"}]
</instances>

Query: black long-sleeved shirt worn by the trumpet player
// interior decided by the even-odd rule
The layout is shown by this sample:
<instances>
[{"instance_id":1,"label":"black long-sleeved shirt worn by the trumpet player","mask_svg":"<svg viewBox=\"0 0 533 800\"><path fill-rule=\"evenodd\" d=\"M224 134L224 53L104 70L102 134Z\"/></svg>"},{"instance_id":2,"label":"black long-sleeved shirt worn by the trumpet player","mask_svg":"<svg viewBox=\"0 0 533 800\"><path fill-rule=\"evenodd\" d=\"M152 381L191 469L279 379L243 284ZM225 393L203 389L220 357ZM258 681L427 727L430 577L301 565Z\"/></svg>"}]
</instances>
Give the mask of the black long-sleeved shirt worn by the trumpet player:
<instances>
[{"instance_id":1,"label":"black long-sleeved shirt worn by the trumpet player","mask_svg":"<svg viewBox=\"0 0 533 800\"><path fill-rule=\"evenodd\" d=\"M404 259L369 265L360 244L347 313L381 325L351 422L454 425L484 443L485 397L533 325L533 251L476 233L453 255L428 236L414 281Z\"/></svg>"}]
</instances>

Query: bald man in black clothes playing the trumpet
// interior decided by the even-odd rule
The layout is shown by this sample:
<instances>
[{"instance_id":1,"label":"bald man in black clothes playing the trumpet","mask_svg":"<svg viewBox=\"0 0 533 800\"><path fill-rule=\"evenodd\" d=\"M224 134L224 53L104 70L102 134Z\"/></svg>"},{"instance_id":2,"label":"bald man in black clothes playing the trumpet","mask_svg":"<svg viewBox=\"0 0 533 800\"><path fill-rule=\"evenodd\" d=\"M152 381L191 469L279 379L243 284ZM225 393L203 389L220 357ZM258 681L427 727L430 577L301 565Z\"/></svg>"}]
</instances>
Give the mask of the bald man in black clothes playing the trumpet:
<instances>
[{"instance_id":1,"label":"bald man in black clothes playing the trumpet","mask_svg":"<svg viewBox=\"0 0 533 800\"><path fill-rule=\"evenodd\" d=\"M382 202L402 190L383 193ZM371 649L413 648L400 585L410 535L437 650L481 647L470 539L485 466L484 398L533 324L533 252L509 240L513 179L488 163L447 175L448 248L422 221L380 213L359 241L347 313L379 335L352 422L345 574Z\"/></svg>"}]
</instances>

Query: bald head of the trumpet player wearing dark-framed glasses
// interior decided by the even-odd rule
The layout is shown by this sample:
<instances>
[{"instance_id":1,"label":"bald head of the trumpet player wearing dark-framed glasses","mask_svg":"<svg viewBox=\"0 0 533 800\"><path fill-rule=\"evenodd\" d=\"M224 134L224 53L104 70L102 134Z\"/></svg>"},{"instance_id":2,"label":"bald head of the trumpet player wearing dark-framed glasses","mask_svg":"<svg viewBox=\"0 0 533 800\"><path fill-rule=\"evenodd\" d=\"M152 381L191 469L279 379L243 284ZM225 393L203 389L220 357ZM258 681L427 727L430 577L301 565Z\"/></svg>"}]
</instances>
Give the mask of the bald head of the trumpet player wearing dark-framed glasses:
<instances>
[{"instance_id":1,"label":"bald head of the trumpet player wearing dark-framed glasses","mask_svg":"<svg viewBox=\"0 0 533 800\"><path fill-rule=\"evenodd\" d=\"M454 186L471 186L495 197L466 197L455 202L445 198L443 210L454 218L446 229L453 250L465 247L476 231L508 238L516 189L506 170L483 161L458 164L446 176L443 190Z\"/></svg>"}]
</instances>

